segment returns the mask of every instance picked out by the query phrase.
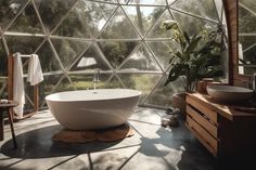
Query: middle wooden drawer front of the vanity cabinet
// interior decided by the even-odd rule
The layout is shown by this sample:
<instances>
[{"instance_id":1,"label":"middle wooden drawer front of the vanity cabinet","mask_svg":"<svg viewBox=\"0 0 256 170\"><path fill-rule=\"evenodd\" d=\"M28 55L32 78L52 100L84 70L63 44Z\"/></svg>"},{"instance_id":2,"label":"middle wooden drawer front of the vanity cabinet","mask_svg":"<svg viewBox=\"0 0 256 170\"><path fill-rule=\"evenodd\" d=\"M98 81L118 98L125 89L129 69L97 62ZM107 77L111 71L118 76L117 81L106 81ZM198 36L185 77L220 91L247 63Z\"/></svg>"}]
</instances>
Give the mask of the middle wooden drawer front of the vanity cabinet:
<instances>
[{"instance_id":1,"label":"middle wooden drawer front of the vanity cabinet","mask_svg":"<svg viewBox=\"0 0 256 170\"><path fill-rule=\"evenodd\" d=\"M210 133L215 139L218 138L218 128L216 125L213 125L208 121L208 118L205 115L199 113L192 106L187 105L187 114L196 121L202 128L204 128L208 133Z\"/></svg>"}]
</instances>

